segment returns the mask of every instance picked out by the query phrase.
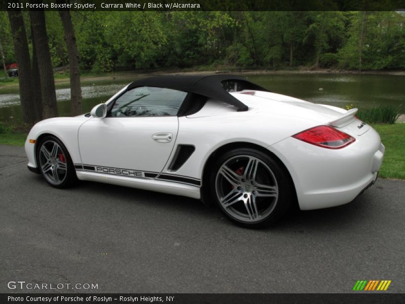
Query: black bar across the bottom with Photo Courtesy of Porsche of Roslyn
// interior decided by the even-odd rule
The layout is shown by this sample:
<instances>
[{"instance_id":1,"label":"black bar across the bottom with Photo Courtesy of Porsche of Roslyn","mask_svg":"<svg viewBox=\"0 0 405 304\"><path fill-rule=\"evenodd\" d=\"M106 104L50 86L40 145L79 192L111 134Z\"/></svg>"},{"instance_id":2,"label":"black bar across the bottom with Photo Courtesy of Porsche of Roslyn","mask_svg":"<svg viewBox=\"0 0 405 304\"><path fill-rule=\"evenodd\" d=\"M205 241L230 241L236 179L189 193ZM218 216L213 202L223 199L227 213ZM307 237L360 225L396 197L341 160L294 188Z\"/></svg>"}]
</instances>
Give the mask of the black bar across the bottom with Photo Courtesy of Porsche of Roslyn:
<instances>
[{"instance_id":1,"label":"black bar across the bottom with Photo Courtesy of Porsche of Roslyn","mask_svg":"<svg viewBox=\"0 0 405 304\"><path fill-rule=\"evenodd\" d=\"M23 301L10 300L10 297L19 297ZM61 300L63 297L76 297L74 301ZM41 298L52 298L51 301L42 300ZM58 297L58 300L56 300ZM144 300L142 300L142 297ZM170 297L170 298L169 298ZM34 300L34 299L41 300ZM80 300L83 298L83 300ZM136 301L132 299L137 298ZM145 300L147 298L147 300ZM170 300L167 300L167 299ZM78 300L77 300L78 299ZM126 299L126 300L124 300ZM0 302L9 303L165 303L165 304L248 304L248 303L403 303L405 294L403 293L2 293Z\"/></svg>"}]
</instances>

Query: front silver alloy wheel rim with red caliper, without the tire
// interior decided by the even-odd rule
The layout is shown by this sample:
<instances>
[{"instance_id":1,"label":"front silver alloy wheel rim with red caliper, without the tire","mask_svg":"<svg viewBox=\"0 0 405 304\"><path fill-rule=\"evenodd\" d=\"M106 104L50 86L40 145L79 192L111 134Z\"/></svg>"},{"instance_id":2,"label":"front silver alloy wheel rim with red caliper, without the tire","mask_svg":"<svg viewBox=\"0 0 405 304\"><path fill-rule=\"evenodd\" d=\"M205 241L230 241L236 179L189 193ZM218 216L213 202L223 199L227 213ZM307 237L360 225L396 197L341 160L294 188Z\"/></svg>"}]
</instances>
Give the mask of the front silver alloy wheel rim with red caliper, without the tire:
<instances>
[{"instance_id":1,"label":"front silver alloy wheel rim with red caliper, without the tire","mask_svg":"<svg viewBox=\"0 0 405 304\"><path fill-rule=\"evenodd\" d=\"M66 156L57 142L48 140L41 145L39 166L49 183L59 185L65 180L67 175Z\"/></svg>"}]
</instances>

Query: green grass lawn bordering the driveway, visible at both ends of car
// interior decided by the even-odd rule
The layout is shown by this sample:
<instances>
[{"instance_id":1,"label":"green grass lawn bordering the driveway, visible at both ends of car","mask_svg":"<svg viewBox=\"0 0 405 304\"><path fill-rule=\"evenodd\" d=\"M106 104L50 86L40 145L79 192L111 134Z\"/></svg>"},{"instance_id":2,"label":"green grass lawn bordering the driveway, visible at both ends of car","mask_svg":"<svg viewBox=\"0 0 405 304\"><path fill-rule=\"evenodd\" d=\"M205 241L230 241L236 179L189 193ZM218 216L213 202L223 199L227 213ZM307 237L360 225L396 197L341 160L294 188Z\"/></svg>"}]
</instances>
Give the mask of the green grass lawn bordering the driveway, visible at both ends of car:
<instances>
[{"instance_id":1,"label":"green grass lawn bordering the driveway, visible at both ends of car","mask_svg":"<svg viewBox=\"0 0 405 304\"><path fill-rule=\"evenodd\" d=\"M405 179L405 124L374 125L385 145L383 165L380 170L382 178ZM27 134L5 131L0 133L0 144L23 146Z\"/></svg>"}]
</instances>

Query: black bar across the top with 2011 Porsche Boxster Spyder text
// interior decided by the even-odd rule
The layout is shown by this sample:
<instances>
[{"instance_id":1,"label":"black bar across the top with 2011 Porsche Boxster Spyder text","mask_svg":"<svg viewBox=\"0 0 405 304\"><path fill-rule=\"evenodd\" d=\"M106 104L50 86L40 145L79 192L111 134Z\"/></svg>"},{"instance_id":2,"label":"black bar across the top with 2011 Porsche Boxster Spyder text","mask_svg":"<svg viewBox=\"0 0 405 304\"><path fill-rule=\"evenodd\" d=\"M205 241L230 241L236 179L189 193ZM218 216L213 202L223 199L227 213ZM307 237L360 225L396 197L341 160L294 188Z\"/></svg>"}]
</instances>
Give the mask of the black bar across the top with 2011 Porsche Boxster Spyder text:
<instances>
[{"instance_id":1,"label":"black bar across the top with 2011 Porsche Boxster Spyder text","mask_svg":"<svg viewBox=\"0 0 405 304\"><path fill-rule=\"evenodd\" d=\"M60 6L66 3L71 6ZM2 0L0 10L42 10L37 4L41 6L44 4L46 11L392 11L405 9L405 0ZM130 4L132 7L129 7Z\"/></svg>"}]
</instances>

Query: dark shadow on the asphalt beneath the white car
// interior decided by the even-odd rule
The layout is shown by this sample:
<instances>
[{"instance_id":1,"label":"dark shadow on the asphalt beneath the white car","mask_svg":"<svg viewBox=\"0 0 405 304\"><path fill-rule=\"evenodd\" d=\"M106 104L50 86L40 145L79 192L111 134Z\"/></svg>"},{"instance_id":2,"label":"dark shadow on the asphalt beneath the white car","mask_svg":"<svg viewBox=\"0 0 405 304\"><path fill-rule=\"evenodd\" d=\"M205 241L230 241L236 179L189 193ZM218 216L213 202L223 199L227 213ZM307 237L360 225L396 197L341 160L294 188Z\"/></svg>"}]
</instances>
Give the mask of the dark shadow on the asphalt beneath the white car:
<instances>
[{"instance_id":1,"label":"dark shadow on the asphalt beneath the white car","mask_svg":"<svg viewBox=\"0 0 405 304\"><path fill-rule=\"evenodd\" d=\"M146 191L137 188L130 188L111 184L101 184L90 181L80 181L75 191L80 193L97 193L108 201L113 199L121 204L134 204L157 208L165 212L178 212L192 217L205 217L222 223L233 225L230 221L224 221L224 216L215 204L204 205L201 201L164 193ZM363 193L352 202L319 210L301 211L298 209L288 211L275 225L268 227L269 231L289 229L326 229L339 230L343 226L361 224L367 220L365 213L366 202L371 193ZM370 211L372 212L372 211Z\"/></svg>"}]
</instances>

